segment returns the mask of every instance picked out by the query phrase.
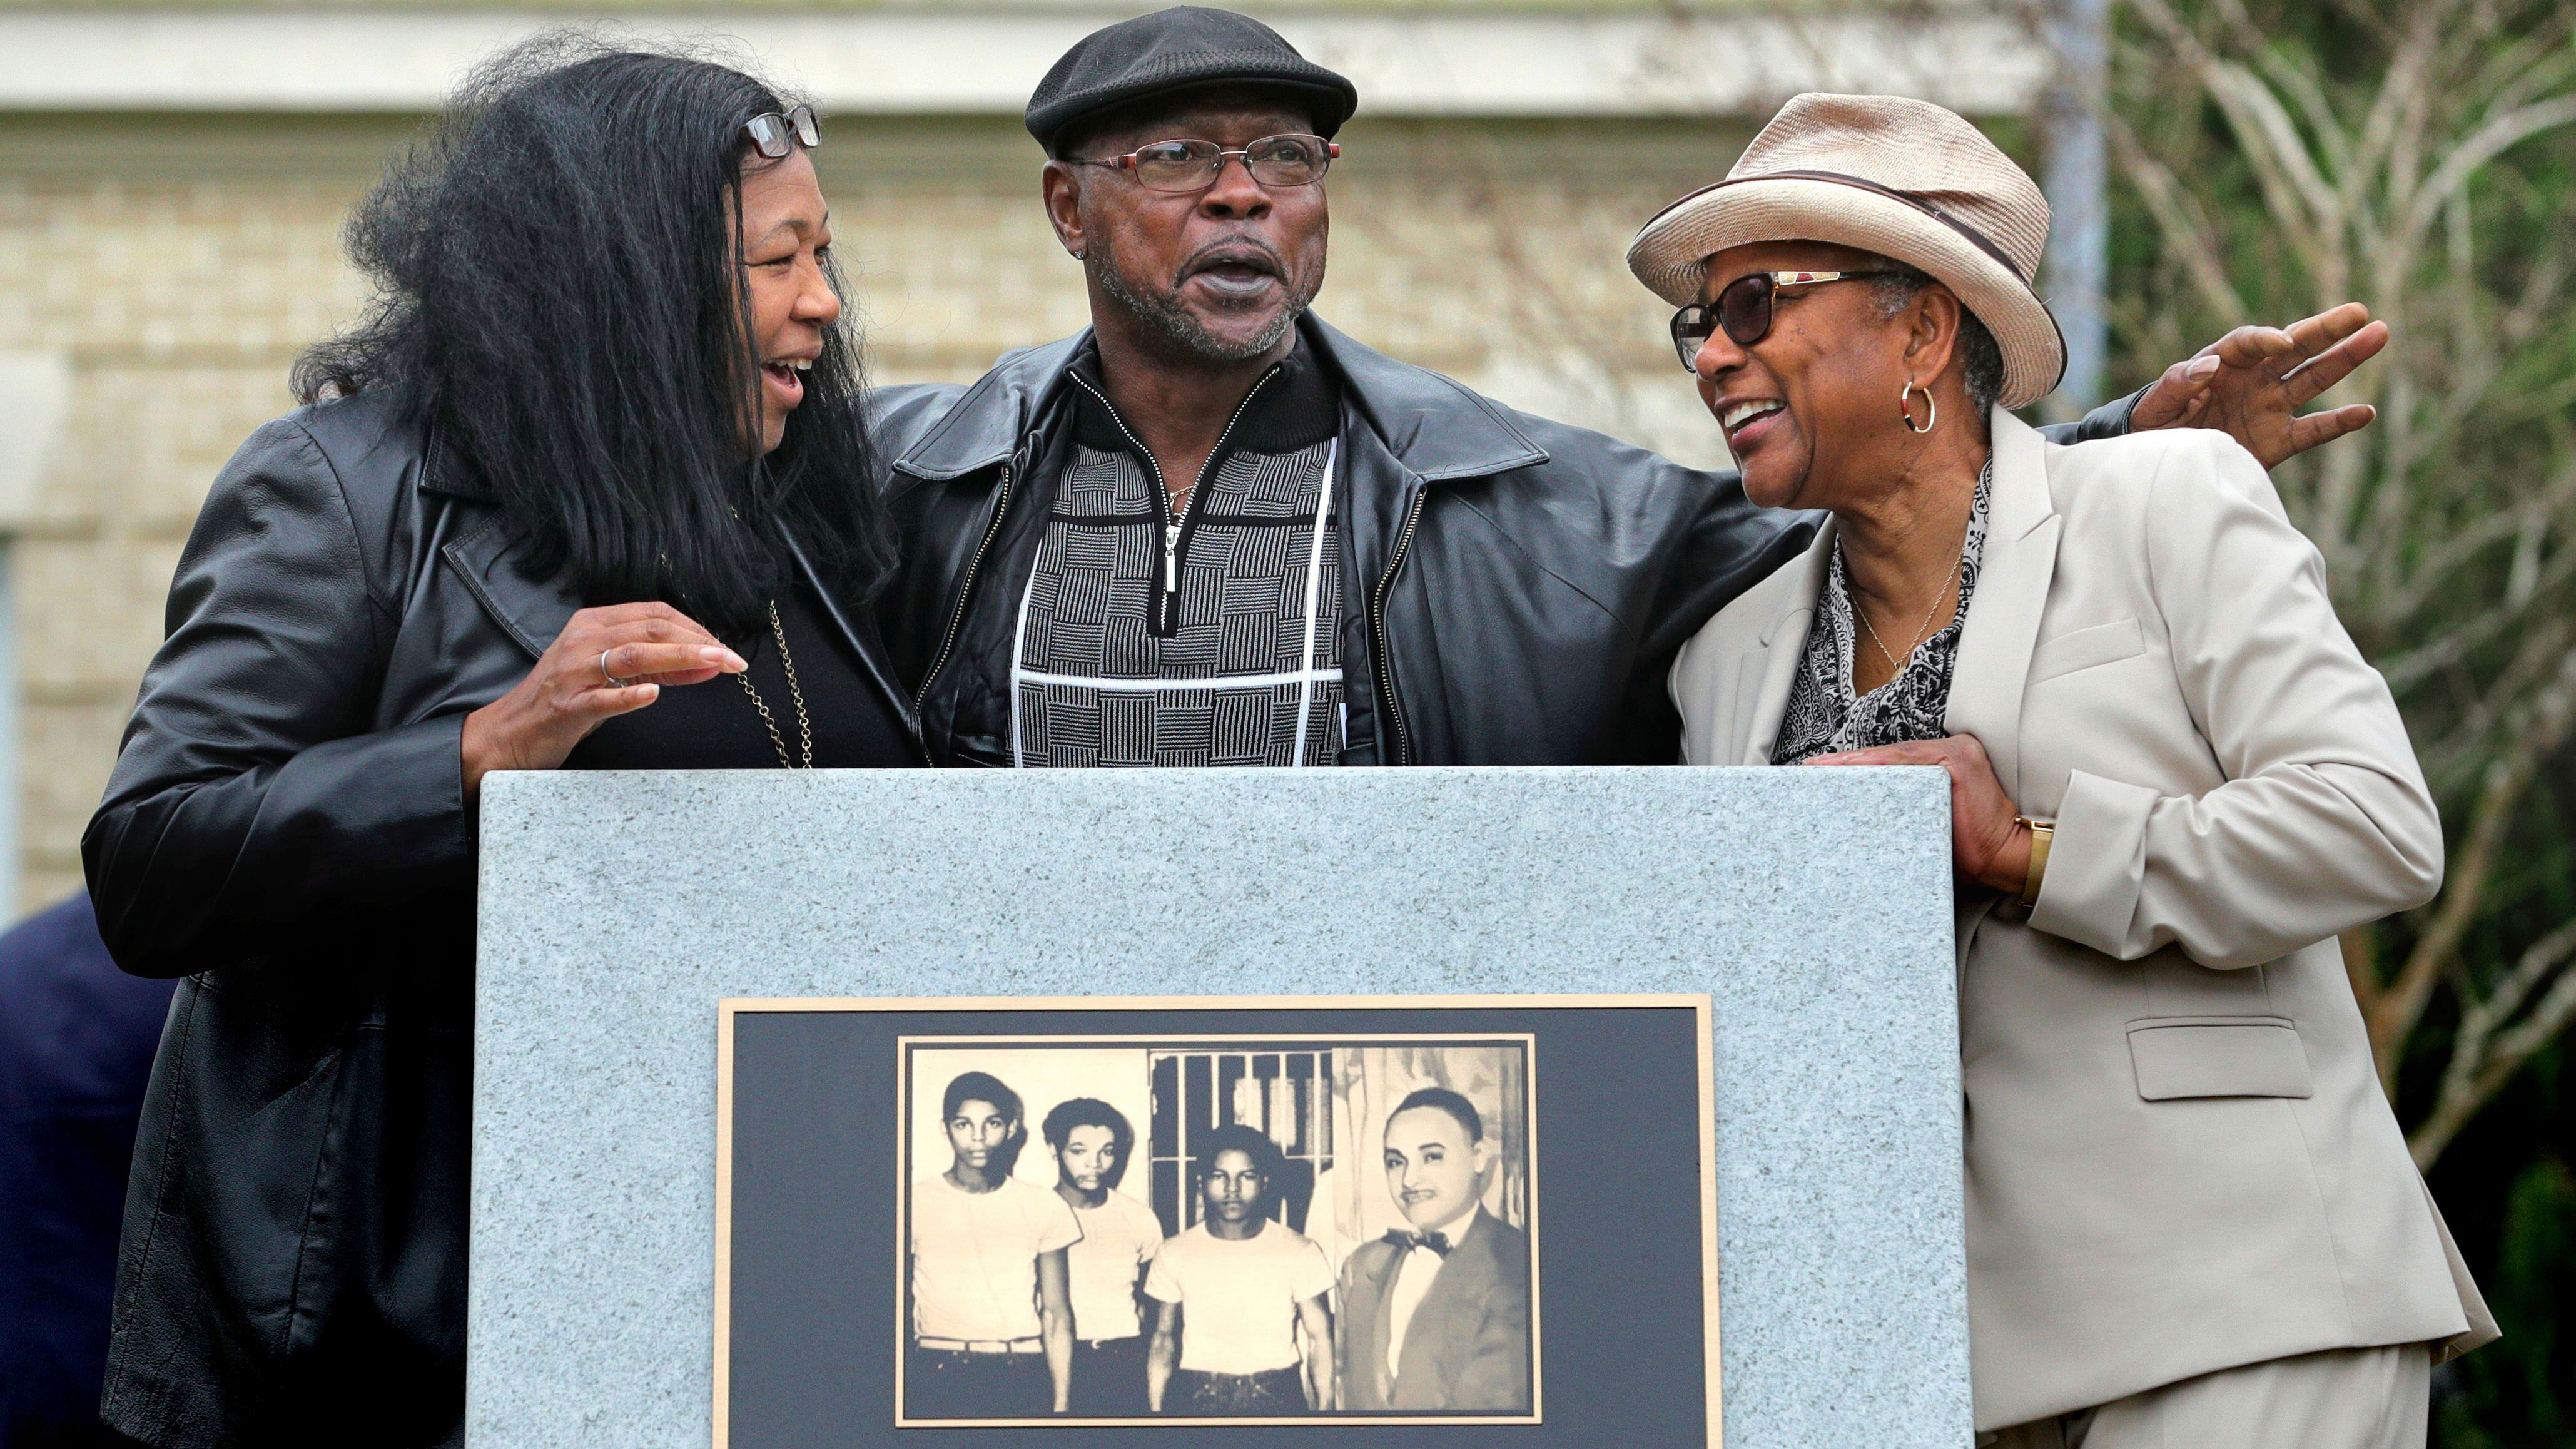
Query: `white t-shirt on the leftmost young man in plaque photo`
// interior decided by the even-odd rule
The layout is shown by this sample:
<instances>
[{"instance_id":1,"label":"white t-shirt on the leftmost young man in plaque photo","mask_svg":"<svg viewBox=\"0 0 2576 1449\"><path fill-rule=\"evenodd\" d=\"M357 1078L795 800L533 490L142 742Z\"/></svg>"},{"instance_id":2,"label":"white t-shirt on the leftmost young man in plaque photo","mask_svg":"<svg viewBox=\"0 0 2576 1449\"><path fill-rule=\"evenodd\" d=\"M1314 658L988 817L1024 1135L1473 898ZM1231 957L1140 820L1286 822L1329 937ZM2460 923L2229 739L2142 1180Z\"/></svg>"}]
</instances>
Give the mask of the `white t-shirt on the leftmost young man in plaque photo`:
<instances>
[{"instance_id":1,"label":"white t-shirt on the leftmost young man in plaque photo","mask_svg":"<svg viewBox=\"0 0 2576 1449\"><path fill-rule=\"evenodd\" d=\"M1082 1238L1054 1189L1002 1178L966 1191L945 1173L912 1183L912 1333L1012 1341L1038 1336L1038 1253Z\"/></svg>"}]
</instances>

